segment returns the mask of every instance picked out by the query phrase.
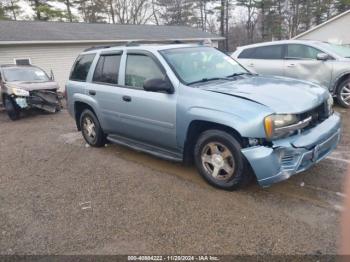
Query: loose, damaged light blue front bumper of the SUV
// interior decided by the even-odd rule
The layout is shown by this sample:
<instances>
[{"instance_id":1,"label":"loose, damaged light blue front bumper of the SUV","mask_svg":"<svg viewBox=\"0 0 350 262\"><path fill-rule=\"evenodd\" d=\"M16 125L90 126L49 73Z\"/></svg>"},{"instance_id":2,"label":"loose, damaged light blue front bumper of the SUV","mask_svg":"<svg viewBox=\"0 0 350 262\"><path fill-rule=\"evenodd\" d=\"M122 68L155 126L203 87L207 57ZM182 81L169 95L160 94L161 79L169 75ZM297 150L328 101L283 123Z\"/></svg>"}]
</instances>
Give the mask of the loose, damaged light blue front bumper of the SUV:
<instances>
[{"instance_id":1,"label":"loose, damaged light blue front bumper of the SUV","mask_svg":"<svg viewBox=\"0 0 350 262\"><path fill-rule=\"evenodd\" d=\"M305 133L273 141L272 147L242 149L261 186L288 179L320 162L338 145L341 121L337 113Z\"/></svg>"}]
</instances>

